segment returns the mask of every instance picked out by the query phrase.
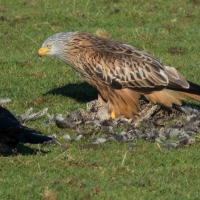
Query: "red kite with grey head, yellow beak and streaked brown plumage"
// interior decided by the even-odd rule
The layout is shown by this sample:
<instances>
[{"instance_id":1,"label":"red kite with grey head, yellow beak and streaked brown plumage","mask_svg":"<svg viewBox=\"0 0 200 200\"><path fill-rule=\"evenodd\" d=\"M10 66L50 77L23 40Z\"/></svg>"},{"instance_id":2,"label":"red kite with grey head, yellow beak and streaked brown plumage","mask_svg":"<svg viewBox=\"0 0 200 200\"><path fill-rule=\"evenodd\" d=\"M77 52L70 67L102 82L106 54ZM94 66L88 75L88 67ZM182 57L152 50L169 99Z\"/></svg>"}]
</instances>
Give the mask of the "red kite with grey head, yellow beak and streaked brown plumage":
<instances>
[{"instance_id":1,"label":"red kite with grey head, yellow beak and streaked brown plumage","mask_svg":"<svg viewBox=\"0 0 200 200\"><path fill-rule=\"evenodd\" d=\"M80 32L58 33L44 41L38 55L58 57L74 68L98 90L99 100L108 102L113 117L134 118L140 95L167 107L181 105L183 96L177 91L200 101L200 86L120 42Z\"/></svg>"}]
</instances>

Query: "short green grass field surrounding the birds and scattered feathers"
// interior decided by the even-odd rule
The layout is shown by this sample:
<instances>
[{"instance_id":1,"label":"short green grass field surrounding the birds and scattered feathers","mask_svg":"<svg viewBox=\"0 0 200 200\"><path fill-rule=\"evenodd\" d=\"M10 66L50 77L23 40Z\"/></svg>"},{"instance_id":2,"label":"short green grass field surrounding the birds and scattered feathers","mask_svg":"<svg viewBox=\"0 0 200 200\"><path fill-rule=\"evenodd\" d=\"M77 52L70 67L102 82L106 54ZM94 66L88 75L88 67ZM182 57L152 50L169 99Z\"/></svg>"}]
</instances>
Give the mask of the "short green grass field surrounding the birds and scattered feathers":
<instances>
[{"instance_id":1,"label":"short green grass field surrounding the birds and scattered feathers","mask_svg":"<svg viewBox=\"0 0 200 200\"><path fill-rule=\"evenodd\" d=\"M85 108L96 91L62 61L37 51L56 32L105 30L112 39L131 44L174 66L200 84L199 0L1 0L0 97L15 114L33 107L49 113ZM87 91L88 93L86 94ZM192 102L194 103L194 102ZM71 130L27 126L61 142ZM161 152L155 143L110 142L85 149L88 140L68 148L19 146L17 156L0 156L0 199L200 199L200 143Z\"/></svg>"}]
</instances>

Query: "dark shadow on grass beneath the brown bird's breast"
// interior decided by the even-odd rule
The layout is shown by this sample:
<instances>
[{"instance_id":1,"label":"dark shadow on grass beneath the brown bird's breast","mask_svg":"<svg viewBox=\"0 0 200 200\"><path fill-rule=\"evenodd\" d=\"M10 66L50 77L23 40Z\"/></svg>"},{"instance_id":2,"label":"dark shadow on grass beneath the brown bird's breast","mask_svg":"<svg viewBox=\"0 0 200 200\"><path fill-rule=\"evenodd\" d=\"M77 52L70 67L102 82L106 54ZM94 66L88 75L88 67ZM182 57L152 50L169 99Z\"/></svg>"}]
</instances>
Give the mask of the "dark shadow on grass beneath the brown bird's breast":
<instances>
[{"instance_id":1,"label":"dark shadow on grass beneath the brown bird's breast","mask_svg":"<svg viewBox=\"0 0 200 200\"><path fill-rule=\"evenodd\" d=\"M63 87L55 88L44 95L62 95L75 99L76 101L87 103L97 99L97 91L88 83L67 84Z\"/></svg>"}]
</instances>

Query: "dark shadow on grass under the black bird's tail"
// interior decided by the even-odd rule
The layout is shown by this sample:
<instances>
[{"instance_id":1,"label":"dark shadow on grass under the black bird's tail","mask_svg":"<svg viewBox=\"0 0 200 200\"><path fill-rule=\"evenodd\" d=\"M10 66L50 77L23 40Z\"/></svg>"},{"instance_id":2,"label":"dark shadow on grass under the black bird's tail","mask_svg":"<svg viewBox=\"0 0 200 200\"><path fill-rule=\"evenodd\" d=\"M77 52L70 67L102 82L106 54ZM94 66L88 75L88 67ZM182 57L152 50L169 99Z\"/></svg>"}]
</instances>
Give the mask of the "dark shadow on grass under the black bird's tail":
<instances>
[{"instance_id":1,"label":"dark shadow on grass under the black bird's tail","mask_svg":"<svg viewBox=\"0 0 200 200\"><path fill-rule=\"evenodd\" d=\"M23 144L18 144L16 148L17 148L17 153L13 153L11 149L8 149L6 152L0 152L0 155L4 157L13 156L17 154L21 154L25 156L25 155L37 155L38 153L40 153L41 155L44 155L50 152L50 151L44 151L42 149L39 150L39 149L31 148Z\"/></svg>"}]
</instances>

